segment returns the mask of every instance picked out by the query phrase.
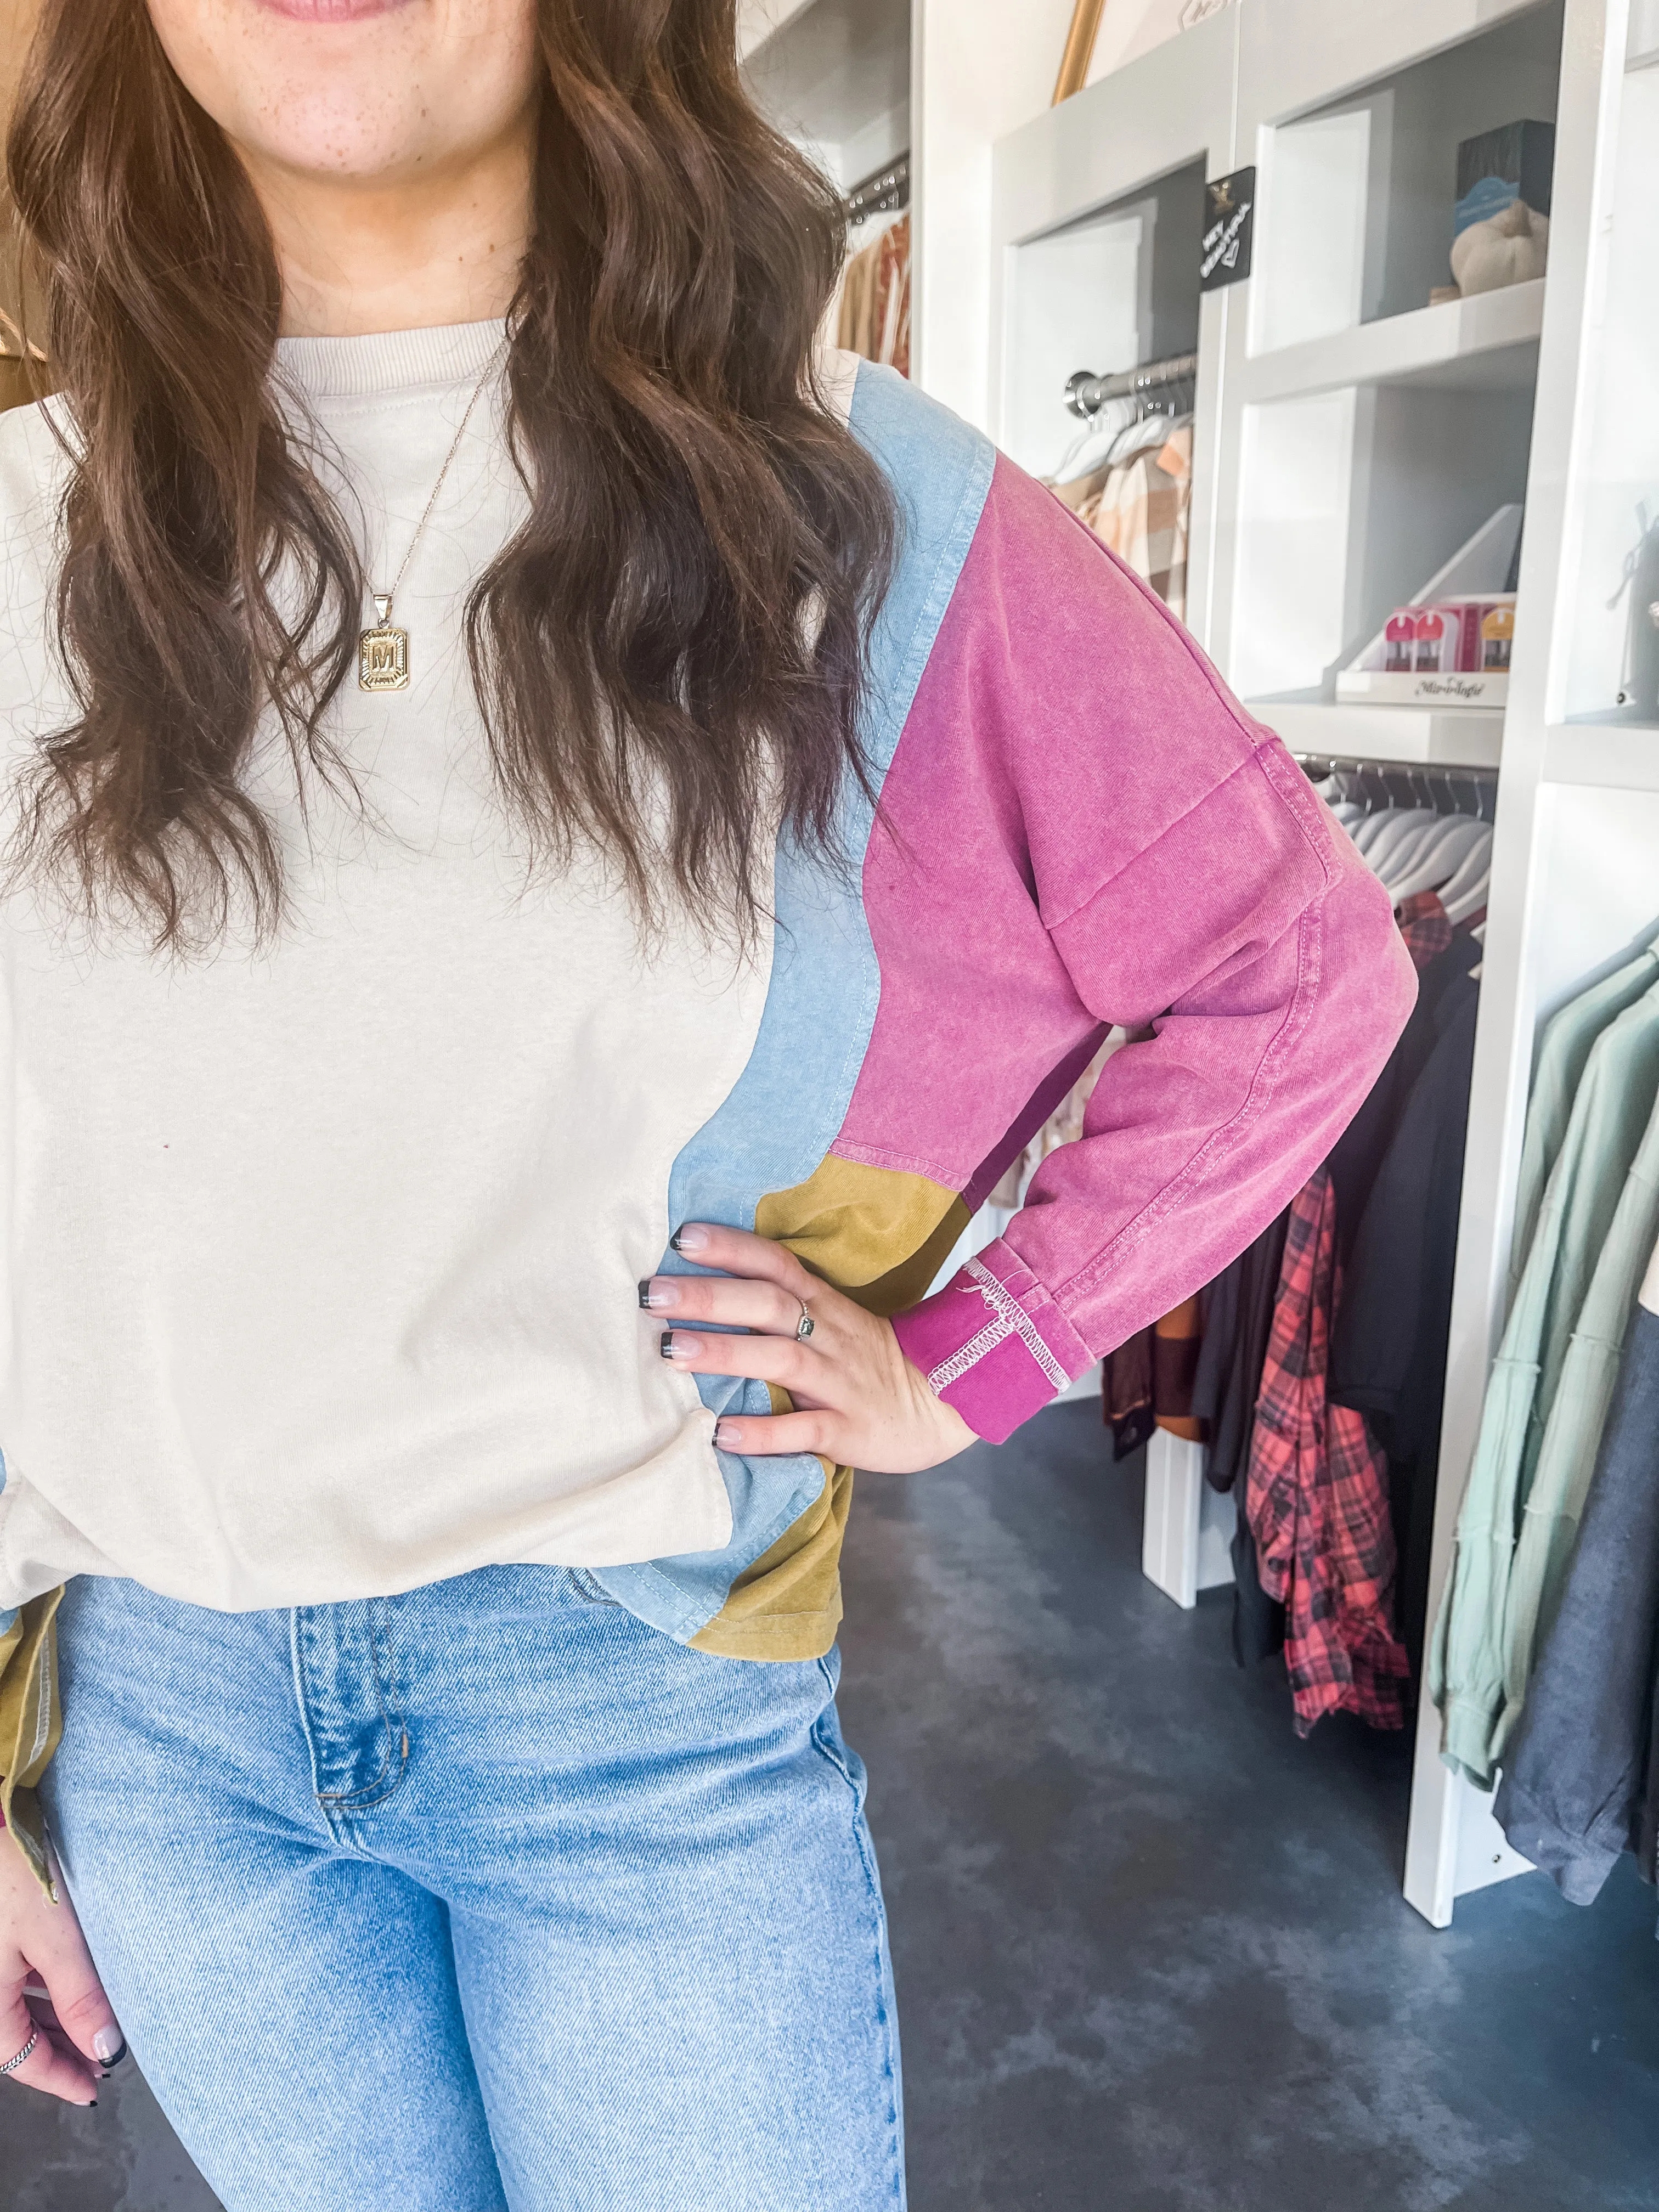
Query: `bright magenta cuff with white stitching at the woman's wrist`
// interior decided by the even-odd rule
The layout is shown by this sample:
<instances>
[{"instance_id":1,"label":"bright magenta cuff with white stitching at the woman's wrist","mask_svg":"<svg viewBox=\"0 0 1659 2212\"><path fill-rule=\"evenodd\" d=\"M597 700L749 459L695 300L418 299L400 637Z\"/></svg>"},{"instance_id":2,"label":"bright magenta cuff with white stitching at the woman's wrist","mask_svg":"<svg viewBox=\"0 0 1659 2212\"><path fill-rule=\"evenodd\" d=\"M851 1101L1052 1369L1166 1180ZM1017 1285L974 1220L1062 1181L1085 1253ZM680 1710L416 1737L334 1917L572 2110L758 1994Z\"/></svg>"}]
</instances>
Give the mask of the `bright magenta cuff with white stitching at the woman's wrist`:
<instances>
[{"instance_id":1,"label":"bright magenta cuff with white stitching at the woman's wrist","mask_svg":"<svg viewBox=\"0 0 1659 2212\"><path fill-rule=\"evenodd\" d=\"M894 1329L929 1389L991 1444L1013 1436L1093 1356L1002 1239L900 1314Z\"/></svg>"}]
</instances>

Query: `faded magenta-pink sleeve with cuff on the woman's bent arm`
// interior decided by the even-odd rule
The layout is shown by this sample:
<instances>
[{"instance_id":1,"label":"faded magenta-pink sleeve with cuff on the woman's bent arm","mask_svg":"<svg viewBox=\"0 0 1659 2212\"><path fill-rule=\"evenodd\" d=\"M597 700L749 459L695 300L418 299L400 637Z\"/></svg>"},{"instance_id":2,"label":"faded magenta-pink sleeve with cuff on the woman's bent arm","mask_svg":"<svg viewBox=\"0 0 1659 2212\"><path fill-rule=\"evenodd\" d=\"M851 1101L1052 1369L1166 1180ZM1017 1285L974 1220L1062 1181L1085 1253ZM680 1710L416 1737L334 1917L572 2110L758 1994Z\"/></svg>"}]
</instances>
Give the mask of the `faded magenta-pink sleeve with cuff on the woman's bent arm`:
<instances>
[{"instance_id":1,"label":"faded magenta-pink sleeve with cuff on the woman's bent arm","mask_svg":"<svg viewBox=\"0 0 1659 2212\"><path fill-rule=\"evenodd\" d=\"M1102 681L1157 670L1161 697L1128 710L1115 699L1110 717L1095 699L1099 761L1060 790L1044 779L1042 752L1055 754L1044 717L1048 743L1029 748L1009 781L1071 989L1097 1022L1152 1037L1106 1062L1084 1137L1048 1155L1006 1237L896 1323L933 1389L995 1442L1272 1221L1352 1119L1416 998L1383 885L1279 739L1126 586L1121 571L1110 588L1097 573L1102 615L1119 624ZM1144 633L1130 648L1126 622ZM1004 622L995 650L1015 695L1018 635ZM973 695L993 692L980 668ZM1044 703L1053 714L1053 681ZM1170 734L1148 748L1161 706ZM1006 743L1009 699L1004 714ZM1104 728L1139 730L1117 807ZM1148 776L1148 752L1168 759L1166 781ZM1091 801L1113 825L1097 841L1108 867L1079 887L1077 821ZM1141 803L1157 816L1150 834L1126 836Z\"/></svg>"}]
</instances>

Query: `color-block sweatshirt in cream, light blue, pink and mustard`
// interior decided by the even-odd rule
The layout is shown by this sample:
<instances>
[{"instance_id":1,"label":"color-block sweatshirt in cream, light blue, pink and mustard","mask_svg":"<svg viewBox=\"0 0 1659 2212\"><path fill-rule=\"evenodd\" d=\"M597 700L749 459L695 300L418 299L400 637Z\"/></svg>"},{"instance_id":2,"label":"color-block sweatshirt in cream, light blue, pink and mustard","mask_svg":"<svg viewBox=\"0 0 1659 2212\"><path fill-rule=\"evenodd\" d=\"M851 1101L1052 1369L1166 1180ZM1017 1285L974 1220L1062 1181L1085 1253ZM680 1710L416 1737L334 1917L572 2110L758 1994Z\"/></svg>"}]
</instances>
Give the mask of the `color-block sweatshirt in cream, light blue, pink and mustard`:
<instances>
[{"instance_id":1,"label":"color-block sweatshirt in cream, light blue, pink and mustard","mask_svg":"<svg viewBox=\"0 0 1659 2212\"><path fill-rule=\"evenodd\" d=\"M363 509L414 533L500 325L285 341ZM847 1473L714 1447L761 1385L657 1356L675 1223L781 1237L1004 1438L1223 1267L1394 1044L1387 894L1281 743L1046 491L841 358L902 560L845 796L852 869L781 841L757 953L641 945L604 867L538 876L467 677L467 588L522 513L480 405L394 619L411 686L274 743L274 945L164 960L0 907L0 1628L66 1575L230 1610L489 1562L582 1566L646 1621L805 1657ZM62 460L0 420L7 805L69 714L49 653ZM2 827L2 825L0 825ZM1113 1024L1086 1135L929 1283ZM925 1480L925 1478L922 1478Z\"/></svg>"}]
</instances>

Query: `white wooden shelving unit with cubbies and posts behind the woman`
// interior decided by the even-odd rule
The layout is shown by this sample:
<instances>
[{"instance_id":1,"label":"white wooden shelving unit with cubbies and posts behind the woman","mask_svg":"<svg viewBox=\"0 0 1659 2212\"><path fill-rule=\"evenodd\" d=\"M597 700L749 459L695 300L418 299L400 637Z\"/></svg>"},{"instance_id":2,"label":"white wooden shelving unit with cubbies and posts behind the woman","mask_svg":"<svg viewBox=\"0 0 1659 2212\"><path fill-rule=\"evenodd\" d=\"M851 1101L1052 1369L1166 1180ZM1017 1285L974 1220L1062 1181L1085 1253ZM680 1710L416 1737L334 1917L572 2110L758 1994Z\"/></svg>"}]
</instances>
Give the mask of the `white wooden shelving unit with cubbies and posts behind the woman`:
<instances>
[{"instance_id":1,"label":"white wooden shelving unit with cubbies and posts behind the woman","mask_svg":"<svg viewBox=\"0 0 1659 2212\"><path fill-rule=\"evenodd\" d=\"M1522 117L1557 128L1548 274L1431 305L1455 144ZM1254 272L1197 303L1194 635L1296 752L1500 770L1433 1617L1504 1318L1537 1026L1659 918L1659 0L1237 0L1033 115L993 166L989 420L1015 460L1044 465L1073 369L1155 354L1146 234L1168 237L1159 192L1194 161L1256 166ZM1506 706L1338 701L1389 608L1515 500ZM1192 1447L1161 1451L1146 1568L1181 1601L1197 1482ZM1442 1927L1524 1865L1425 1708L1407 1898Z\"/></svg>"}]
</instances>

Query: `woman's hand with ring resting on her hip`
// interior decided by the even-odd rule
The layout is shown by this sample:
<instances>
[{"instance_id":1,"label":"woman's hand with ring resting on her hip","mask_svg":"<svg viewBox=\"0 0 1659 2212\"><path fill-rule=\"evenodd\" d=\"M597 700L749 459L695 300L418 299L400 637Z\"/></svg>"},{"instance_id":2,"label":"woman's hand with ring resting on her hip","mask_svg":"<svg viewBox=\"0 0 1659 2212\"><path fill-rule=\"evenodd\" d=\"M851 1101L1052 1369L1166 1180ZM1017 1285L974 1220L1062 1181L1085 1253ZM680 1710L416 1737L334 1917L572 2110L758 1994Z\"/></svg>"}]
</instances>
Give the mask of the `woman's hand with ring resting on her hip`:
<instances>
[{"instance_id":1,"label":"woman's hand with ring resting on her hip","mask_svg":"<svg viewBox=\"0 0 1659 2212\"><path fill-rule=\"evenodd\" d=\"M807 1274L794 1252L748 1230L688 1221L675 1250L719 1276L653 1274L639 1303L661 1316L661 1356L714 1376L759 1376L794 1400L794 1413L721 1416L714 1442L752 1458L816 1451L836 1467L911 1475L975 1442L956 1407L898 1349L891 1321ZM796 1336L801 1307L812 1334ZM699 1336L699 1321L748 1336Z\"/></svg>"}]
</instances>

